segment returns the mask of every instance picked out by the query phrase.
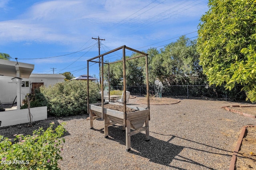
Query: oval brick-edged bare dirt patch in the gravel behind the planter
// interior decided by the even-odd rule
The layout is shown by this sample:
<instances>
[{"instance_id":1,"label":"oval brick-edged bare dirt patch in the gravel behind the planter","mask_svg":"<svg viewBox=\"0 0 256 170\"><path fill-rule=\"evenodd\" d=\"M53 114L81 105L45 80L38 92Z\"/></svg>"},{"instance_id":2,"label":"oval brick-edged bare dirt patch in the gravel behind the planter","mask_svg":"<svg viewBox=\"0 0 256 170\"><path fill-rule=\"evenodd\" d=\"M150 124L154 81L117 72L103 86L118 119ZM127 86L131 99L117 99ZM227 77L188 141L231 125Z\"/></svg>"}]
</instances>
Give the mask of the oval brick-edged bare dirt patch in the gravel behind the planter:
<instances>
[{"instance_id":1,"label":"oval brick-edged bare dirt patch in the gravel behind the planter","mask_svg":"<svg viewBox=\"0 0 256 170\"><path fill-rule=\"evenodd\" d=\"M147 104L147 98L139 99L137 102L141 104ZM172 98L149 98L149 103L152 105L176 104L179 102L180 100Z\"/></svg>"}]
</instances>

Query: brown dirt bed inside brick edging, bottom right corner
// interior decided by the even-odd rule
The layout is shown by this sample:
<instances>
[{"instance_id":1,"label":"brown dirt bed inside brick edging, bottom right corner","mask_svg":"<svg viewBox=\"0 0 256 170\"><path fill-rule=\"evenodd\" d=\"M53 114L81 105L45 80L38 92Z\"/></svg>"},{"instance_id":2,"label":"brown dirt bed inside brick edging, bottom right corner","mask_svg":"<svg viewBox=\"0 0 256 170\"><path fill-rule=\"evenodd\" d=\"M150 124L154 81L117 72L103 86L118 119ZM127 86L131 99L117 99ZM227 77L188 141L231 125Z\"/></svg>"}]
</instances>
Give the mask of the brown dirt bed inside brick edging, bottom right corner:
<instances>
[{"instance_id":1,"label":"brown dirt bed inside brick edging, bottom right corner","mask_svg":"<svg viewBox=\"0 0 256 170\"><path fill-rule=\"evenodd\" d=\"M256 127L247 127L236 160L236 170L256 169Z\"/></svg>"}]
</instances>

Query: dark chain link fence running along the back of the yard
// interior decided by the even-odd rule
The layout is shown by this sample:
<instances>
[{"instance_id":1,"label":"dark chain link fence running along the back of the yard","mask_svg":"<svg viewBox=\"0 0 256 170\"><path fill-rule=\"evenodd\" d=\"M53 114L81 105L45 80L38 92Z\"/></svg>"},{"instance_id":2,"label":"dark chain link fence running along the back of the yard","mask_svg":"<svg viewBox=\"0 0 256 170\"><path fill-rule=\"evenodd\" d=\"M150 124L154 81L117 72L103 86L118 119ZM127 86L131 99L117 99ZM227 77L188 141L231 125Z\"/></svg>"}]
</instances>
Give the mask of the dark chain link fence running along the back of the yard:
<instances>
[{"instance_id":1,"label":"dark chain link fence running along the back of the yard","mask_svg":"<svg viewBox=\"0 0 256 170\"><path fill-rule=\"evenodd\" d=\"M156 87L149 86L150 96L157 96ZM224 87L215 87L208 85L172 85L163 86L162 94L163 97L172 98L213 98L226 101L245 101L246 94L241 91L242 86L236 86L231 91L225 90ZM110 90L123 90L122 86L113 86ZM144 96L146 95L146 86L127 86L127 91L131 92L132 95Z\"/></svg>"}]
</instances>

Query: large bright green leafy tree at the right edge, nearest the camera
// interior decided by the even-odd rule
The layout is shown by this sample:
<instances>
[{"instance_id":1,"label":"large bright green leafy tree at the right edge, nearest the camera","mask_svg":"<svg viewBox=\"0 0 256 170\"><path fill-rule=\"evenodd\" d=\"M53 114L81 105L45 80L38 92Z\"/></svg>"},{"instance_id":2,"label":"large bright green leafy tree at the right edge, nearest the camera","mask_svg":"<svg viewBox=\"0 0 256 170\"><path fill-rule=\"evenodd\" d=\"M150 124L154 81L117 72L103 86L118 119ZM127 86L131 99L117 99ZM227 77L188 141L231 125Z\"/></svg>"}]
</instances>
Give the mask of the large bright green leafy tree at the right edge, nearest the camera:
<instances>
[{"instance_id":1,"label":"large bright green leafy tree at the right edge, nearest the camera","mask_svg":"<svg viewBox=\"0 0 256 170\"><path fill-rule=\"evenodd\" d=\"M256 2L210 0L198 30L200 64L210 84L244 86L256 101Z\"/></svg>"}]
</instances>

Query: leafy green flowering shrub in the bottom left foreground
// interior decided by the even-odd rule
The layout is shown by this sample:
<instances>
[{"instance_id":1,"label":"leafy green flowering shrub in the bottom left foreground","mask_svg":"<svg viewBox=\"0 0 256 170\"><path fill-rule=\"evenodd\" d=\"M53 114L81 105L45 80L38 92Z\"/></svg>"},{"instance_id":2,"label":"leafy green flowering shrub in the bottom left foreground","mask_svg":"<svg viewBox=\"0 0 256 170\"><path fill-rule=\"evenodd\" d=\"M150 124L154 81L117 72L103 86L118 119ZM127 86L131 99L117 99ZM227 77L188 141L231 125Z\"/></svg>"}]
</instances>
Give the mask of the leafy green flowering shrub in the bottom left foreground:
<instances>
[{"instance_id":1,"label":"leafy green flowering shrub in the bottom left foreground","mask_svg":"<svg viewBox=\"0 0 256 170\"><path fill-rule=\"evenodd\" d=\"M57 161L62 159L60 151L63 150L62 142L65 142L61 138L65 131L63 125L54 129L52 122L46 131L40 128L32 136L14 135L14 144L0 136L0 169L59 170Z\"/></svg>"}]
</instances>

